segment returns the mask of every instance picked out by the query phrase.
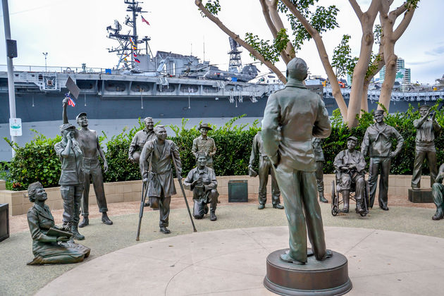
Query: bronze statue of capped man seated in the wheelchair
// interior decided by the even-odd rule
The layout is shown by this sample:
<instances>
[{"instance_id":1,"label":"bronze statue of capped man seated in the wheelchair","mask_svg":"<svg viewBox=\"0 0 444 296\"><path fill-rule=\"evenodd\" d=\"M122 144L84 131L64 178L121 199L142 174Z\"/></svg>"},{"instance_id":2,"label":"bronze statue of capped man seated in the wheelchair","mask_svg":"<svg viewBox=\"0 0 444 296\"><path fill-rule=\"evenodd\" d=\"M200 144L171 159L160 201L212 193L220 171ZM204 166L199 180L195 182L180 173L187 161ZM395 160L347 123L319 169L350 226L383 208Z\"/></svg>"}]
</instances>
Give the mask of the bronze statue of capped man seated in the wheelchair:
<instances>
[{"instance_id":1,"label":"bronze statue of capped man seated in the wheelchair","mask_svg":"<svg viewBox=\"0 0 444 296\"><path fill-rule=\"evenodd\" d=\"M357 145L356 137L348 137L347 149L339 152L335 157L333 165L338 172L338 185L343 193L344 207L343 213L349 211L350 190L355 185L355 195L357 211L363 212L362 201L365 193L364 168L366 166L364 155L355 150Z\"/></svg>"}]
</instances>

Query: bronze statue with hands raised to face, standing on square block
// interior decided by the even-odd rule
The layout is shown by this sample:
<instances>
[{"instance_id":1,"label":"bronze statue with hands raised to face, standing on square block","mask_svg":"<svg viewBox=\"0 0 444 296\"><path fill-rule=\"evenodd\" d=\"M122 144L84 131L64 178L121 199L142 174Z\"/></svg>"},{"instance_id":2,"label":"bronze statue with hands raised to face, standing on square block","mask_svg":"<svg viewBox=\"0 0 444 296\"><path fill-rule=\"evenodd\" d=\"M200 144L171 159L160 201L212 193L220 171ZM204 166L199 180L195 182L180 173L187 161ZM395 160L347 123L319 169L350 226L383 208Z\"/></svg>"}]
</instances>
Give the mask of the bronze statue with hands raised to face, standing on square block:
<instances>
[{"instance_id":1,"label":"bronze statue with hands raised to face, standing on square block","mask_svg":"<svg viewBox=\"0 0 444 296\"><path fill-rule=\"evenodd\" d=\"M436 164L436 148L435 137L439 135L441 126L435 119L436 113L431 113L430 106L419 106L419 114L421 118L413 121L414 128L417 129L414 165L412 174L412 189L419 190L421 187L422 163L427 159L428 168L430 169L430 185L435 183L438 174L438 166Z\"/></svg>"}]
</instances>

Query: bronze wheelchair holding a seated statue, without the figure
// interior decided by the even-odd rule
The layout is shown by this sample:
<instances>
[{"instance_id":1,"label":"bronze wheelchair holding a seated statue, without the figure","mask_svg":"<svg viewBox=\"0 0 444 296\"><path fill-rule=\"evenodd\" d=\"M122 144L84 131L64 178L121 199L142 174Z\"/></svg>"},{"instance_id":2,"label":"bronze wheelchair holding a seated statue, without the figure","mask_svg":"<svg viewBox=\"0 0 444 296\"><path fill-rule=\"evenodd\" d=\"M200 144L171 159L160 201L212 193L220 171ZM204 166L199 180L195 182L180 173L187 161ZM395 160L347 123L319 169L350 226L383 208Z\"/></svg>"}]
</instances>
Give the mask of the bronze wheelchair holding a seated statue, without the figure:
<instances>
[{"instance_id":1,"label":"bronze wheelchair holding a seated statue, without the figure","mask_svg":"<svg viewBox=\"0 0 444 296\"><path fill-rule=\"evenodd\" d=\"M342 198L342 193L340 194L339 176L340 173L338 171L335 171L335 180L331 181L331 214L333 216L338 215L338 213L340 212L339 206L340 204L344 203L344 199ZM369 214L369 182L367 182L365 178L364 181L365 181L365 190L364 190L364 198L362 200L362 209L364 209L364 211L358 212L357 209L354 209L354 211L356 211L356 213L359 213L362 217L367 216L367 214ZM354 195L356 194L355 190L356 190L356 184L353 183L352 188L350 190L350 200L353 200L354 202L356 202L356 199L354 198Z\"/></svg>"}]
</instances>

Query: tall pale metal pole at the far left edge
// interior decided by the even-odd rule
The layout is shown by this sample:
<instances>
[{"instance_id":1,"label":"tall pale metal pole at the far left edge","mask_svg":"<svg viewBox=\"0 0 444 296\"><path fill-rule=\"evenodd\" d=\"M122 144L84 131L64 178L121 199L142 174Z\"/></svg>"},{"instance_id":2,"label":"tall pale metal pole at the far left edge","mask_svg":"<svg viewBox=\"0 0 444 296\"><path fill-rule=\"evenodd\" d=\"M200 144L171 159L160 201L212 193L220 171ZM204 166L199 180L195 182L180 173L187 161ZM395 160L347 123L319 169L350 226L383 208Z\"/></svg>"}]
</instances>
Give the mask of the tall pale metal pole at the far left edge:
<instances>
[{"instance_id":1,"label":"tall pale metal pole at the far left edge","mask_svg":"<svg viewBox=\"0 0 444 296\"><path fill-rule=\"evenodd\" d=\"M5 44L6 40L11 39L11 27L9 25L9 9L8 0L1 0L1 6L3 7L3 23L5 27ZM6 52L8 48L6 46ZM6 57L6 63L8 66L8 94L9 94L9 118L16 118L16 91L14 90L14 69L13 61L9 56ZM16 142L16 136L11 136L11 141ZM16 152L12 148L12 156L14 157Z\"/></svg>"}]
</instances>

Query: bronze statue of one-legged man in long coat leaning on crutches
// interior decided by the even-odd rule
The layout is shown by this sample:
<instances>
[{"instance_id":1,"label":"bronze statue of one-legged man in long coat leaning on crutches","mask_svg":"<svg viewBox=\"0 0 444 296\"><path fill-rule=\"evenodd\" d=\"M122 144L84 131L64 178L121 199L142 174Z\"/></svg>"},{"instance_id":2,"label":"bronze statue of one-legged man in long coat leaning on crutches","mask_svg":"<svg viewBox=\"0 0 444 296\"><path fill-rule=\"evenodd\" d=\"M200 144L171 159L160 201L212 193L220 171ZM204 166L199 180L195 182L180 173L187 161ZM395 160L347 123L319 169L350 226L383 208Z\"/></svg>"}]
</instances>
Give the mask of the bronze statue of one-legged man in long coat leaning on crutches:
<instances>
[{"instance_id":1,"label":"bronze statue of one-legged man in long coat leaning on crutches","mask_svg":"<svg viewBox=\"0 0 444 296\"><path fill-rule=\"evenodd\" d=\"M160 230L168 234L171 233L167 228L171 195L176 194L171 161L175 161L178 175L182 171L182 164L175 143L166 140L164 125L157 125L154 132L156 139L146 142L140 154L140 173L144 183L148 183L149 178L149 204L152 208L159 208Z\"/></svg>"}]
</instances>

